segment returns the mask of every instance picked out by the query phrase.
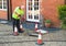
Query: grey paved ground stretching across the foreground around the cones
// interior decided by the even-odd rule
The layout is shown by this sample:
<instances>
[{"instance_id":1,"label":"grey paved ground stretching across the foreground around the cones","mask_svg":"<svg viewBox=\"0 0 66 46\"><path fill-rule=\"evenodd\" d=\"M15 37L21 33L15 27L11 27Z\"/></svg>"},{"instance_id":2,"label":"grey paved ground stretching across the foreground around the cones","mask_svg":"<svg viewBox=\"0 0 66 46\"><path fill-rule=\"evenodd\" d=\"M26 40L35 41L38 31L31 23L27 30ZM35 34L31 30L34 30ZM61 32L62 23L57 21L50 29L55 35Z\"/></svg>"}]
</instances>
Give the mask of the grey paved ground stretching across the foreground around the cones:
<instances>
[{"instance_id":1,"label":"grey paved ground stretching across the foreground around the cones","mask_svg":"<svg viewBox=\"0 0 66 46\"><path fill-rule=\"evenodd\" d=\"M37 37L29 36L26 31L32 33L32 30L25 30L19 36L12 35L12 25L0 24L0 46L36 46ZM66 30L51 32L42 37L43 46L66 46Z\"/></svg>"}]
</instances>

